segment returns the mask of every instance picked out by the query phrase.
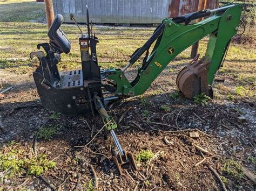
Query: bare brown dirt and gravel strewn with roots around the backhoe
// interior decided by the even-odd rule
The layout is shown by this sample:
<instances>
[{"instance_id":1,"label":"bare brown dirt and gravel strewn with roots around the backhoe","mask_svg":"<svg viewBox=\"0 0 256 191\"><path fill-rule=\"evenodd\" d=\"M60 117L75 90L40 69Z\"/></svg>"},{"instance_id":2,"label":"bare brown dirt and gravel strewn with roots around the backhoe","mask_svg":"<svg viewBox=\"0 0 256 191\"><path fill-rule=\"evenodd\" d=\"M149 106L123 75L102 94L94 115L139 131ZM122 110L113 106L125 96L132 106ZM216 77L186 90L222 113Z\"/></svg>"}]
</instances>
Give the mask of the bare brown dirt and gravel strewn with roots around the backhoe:
<instances>
[{"instance_id":1,"label":"bare brown dirt and gravel strewn with roots around the backhoe","mask_svg":"<svg viewBox=\"0 0 256 191\"><path fill-rule=\"evenodd\" d=\"M176 69L179 70L180 67ZM2 101L1 116L6 132L1 135L1 142L6 146L8 142L15 140L22 148L31 149L35 132L53 112L41 106L31 75L24 77L28 81L15 86L14 90L6 93ZM139 97L129 101L118 101L110 110L110 114L118 122L122 114L129 109L116 131L126 151L134 154L142 150L151 150L155 154L161 152L160 157L153 159L150 164L142 164L139 172L143 175L129 171L129 175L118 174L113 161L109 160L113 143L106 131L100 132L93 139L89 145L92 152L86 148L75 147L85 145L91 139L91 135L95 135L103 126L99 116L59 116L47 124L58 126L56 135L50 140L38 140L39 153L48 154L49 158L57 163L57 166L45 172L44 176L53 185L61 185L59 188L62 189L85 189L86 182L94 180L89 166L92 164L98 177L98 189L221 189L220 182L208 166L222 174L221 164L232 158L255 171L255 164L248 161L248 157L256 154L255 107L241 101L225 103L221 100L213 100L206 107L201 107L186 100L182 95L174 101L169 97L172 88L176 89L170 86L174 79L175 76L169 75L166 69L144 96L146 104ZM31 103L36 104L36 107L19 108ZM169 105L171 110L165 112L159 105ZM144 115L145 111L149 112L147 117ZM238 124L236 117L241 114L247 121ZM148 123L145 122L146 119ZM90 128L94 127L93 132L85 120ZM139 124L139 128L132 122ZM191 141L191 138L186 136L189 132L197 130L186 131L187 129L198 129L207 135L199 132L200 137ZM176 130L185 131L167 132ZM169 144L166 144L165 138L169 140ZM192 145L193 142L218 157L208 159L195 167L194 165L203 159L203 155ZM109 159L100 162L103 159L102 154ZM12 178L10 182L5 181L2 186L15 188L28 177L24 188L47 188L44 182L31 175ZM245 177L237 180L226 175L226 178L227 188L255 188Z\"/></svg>"}]
</instances>

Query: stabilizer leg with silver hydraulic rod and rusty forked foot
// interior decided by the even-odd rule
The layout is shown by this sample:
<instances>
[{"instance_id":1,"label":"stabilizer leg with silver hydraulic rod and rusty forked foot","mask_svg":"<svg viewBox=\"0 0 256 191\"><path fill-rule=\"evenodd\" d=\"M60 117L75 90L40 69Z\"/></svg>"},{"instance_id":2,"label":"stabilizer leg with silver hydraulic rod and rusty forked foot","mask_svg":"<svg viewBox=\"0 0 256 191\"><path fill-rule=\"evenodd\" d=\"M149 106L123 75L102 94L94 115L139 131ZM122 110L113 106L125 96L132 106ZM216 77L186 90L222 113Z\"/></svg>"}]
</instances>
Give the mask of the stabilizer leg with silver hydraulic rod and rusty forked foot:
<instances>
[{"instance_id":1,"label":"stabilizer leg with silver hydraulic rod and rusty forked foot","mask_svg":"<svg viewBox=\"0 0 256 191\"><path fill-rule=\"evenodd\" d=\"M120 173L120 175L122 175L122 168L131 167L133 167L135 171L139 171L133 154L123 150L116 136L116 133L114 133L114 129L117 128L117 124L116 122L114 122L113 117L107 114L104 104L97 95L94 97L94 101L97 111L99 112L100 116L102 116L106 129L110 132L110 135L114 140L114 144L116 145L116 148L112 149L112 160L114 161L114 164L116 164L118 172Z\"/></svg>"}]
</instances>

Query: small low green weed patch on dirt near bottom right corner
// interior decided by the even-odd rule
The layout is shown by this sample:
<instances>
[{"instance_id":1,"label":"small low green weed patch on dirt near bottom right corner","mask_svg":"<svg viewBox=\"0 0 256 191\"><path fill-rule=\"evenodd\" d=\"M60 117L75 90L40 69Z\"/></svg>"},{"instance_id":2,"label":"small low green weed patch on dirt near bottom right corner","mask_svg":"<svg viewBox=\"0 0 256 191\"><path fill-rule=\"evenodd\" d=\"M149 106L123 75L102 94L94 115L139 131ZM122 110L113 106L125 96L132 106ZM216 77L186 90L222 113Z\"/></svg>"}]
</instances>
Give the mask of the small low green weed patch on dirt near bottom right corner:
<instances>
[{"instance_id":1,"label":"small low green weed patch on dirt near bottom right corner","mask_svg":"<svg viewBox=\"0 0 256 191\"><path fill-rule=\"evenodd\" d=\"M228 159L223 164L221 171L223 171L227 175L230 175L234 179L241 179L242 176L244 175L244 172L242 171L240 163L237 161L234 161L233 159Z\"/></svg>"}]
</instances>

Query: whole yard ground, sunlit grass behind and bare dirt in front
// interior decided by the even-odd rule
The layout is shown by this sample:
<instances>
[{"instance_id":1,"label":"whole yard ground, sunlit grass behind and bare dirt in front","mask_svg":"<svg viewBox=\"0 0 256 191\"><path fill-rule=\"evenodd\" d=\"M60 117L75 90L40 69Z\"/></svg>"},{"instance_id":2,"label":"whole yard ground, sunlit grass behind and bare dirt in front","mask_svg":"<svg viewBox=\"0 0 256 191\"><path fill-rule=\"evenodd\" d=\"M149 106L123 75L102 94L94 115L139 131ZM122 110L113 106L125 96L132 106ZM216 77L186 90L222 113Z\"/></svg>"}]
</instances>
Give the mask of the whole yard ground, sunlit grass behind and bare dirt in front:
<instances>
[{"instance_id":1,"label":"whole yard ground, sunlit grass behind and bare dirt in front","mask_svg":"<svg viewBox=\"0 0 256 191\"><path fill-rule=\"evenodd\" d=\"M28 19L37 20L31 16ZM50 117L44 128L53 131L48 137L38 137L37 154L55 161L56 166L41 174L51 186L26 169L15 176L6 176L11 168L0 169L1 189L223 190L211 167L227 189L255 189L255 183L240 172L243 166L255 174L255 44L231 44L216 77L218 81L214 82L214 99L205 107L187 100L176 87L178 72L191 60L190 49L170 63L144 95L109 104L107 109L118 124L116 133L123 148L134 155L143 150L154 155L150 161L137 162L139 172L127 169L119 175L111 160L113 140L106 130L99 132L103 126L99 116L52 117L55 112L42 107L32 79L38 62L29 60L28 55L37 43L47 39L46 25L6 20L9 17L0 22L0 78L5 80L4 88L14 88L0 100L0 157L7 150L24 150L24 157L31 158L36 134ZM80 59L78 32L73 25L63 28L68 31L73 52L63 55L59 67L73 69L79 66ZM95 28L102 40L98 59L104 68L124 66L128 56L153 32L152 27ZM206 41L200 41L200 53ZM136 67L129 70L129 78L136 75ZM246 118L245 122L237 122L240 116ZM199 138L190 138L191 132L198 132ZM87 147L77 147L90 140ZM240 167L234 168L230 161Z\"/></svg>"}]
</instances>

